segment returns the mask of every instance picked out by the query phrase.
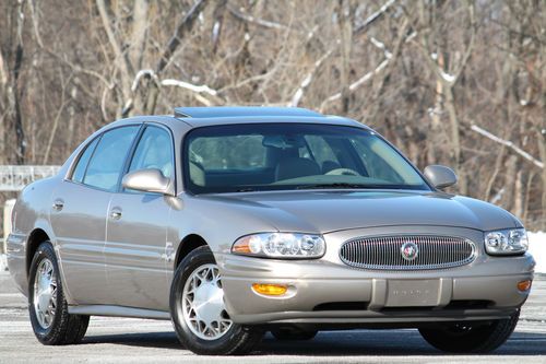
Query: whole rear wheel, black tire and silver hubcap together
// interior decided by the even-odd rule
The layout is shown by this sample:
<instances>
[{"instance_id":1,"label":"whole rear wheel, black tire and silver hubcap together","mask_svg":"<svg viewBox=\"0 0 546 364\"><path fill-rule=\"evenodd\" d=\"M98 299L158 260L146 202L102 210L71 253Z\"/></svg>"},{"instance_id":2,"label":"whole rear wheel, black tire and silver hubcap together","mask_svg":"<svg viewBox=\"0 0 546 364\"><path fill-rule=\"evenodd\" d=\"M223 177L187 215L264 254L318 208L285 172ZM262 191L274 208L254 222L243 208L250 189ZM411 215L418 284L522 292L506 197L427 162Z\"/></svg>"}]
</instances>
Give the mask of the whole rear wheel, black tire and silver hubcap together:
<instances>
[{"instance_id":1,"label":"whole rear wheel, black tire and silver hubcap together","mask_svg":"<svg viewBox=\"0 0 546 364\"><path fill-rule=\"evenodd\" d=\"M46 345L78 343L87 330L88 316L68 313L59 266L50 242L38 247L31 263L28 313L34 334Z\"/></svg>"}]
</instances>

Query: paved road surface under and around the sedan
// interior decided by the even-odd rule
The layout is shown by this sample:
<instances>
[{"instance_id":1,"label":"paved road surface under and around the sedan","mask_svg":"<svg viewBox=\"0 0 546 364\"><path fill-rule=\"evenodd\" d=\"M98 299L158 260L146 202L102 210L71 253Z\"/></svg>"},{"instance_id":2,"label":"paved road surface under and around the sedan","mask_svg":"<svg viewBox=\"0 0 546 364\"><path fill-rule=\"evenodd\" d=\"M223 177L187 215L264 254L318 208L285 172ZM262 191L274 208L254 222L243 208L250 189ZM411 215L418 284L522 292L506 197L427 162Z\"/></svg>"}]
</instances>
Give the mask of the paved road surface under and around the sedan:
<instances>
[{"instance_id":1,"label":"paved road surface under and around the sedan","mask_svg":"<svg viewBox=\"0 0 546 364\"><path fill-rule=\"evenodd\" d=\"M170 322L93 317L84 342L44 347L31 329L24 297L0 272L0 363L546 363L546 277L538 278L511 339L492 355L444 355L416 330L321 332L281 343L266 336L245 357L195 356Z\"/></svg>"}]
</instances>

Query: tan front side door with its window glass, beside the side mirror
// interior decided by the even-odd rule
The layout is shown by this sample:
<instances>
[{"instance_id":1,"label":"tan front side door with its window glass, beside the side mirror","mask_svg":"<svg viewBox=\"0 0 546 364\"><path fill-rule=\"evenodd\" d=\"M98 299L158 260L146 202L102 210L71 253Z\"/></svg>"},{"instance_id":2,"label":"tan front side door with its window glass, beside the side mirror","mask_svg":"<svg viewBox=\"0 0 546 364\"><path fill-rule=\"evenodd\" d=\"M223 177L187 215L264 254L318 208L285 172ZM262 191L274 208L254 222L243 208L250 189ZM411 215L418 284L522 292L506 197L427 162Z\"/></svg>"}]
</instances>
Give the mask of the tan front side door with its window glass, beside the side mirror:
<instances>
[{"instance_id":1,"label":"tan front side door with its window glass, beside the side mirror","mask_svg":"<svg viewBox=\"0 0 546 364\"><path fill-rule=\"evenodd\" d=\"M159 169L175 176L170 131L147 125L140 137L127 173ZM120 189L114 193L105 248L108 289L116 305L168 310L169 286L165 258L170 207L162 193Z\"/></svg>"}]
</instances>

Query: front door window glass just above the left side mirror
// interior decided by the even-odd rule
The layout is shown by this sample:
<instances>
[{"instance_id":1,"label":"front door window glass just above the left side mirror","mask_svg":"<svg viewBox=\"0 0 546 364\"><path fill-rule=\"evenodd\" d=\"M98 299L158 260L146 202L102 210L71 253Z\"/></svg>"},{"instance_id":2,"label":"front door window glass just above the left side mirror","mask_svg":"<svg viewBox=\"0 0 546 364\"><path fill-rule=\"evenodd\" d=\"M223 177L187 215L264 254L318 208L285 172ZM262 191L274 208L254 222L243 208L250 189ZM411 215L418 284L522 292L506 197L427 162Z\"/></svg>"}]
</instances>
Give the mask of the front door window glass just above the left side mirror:
<instances>
[{"instance_id":1,"label":"front door window glass just above the left side mirror","mask_svg":"<svg viewBox=\"0 0 546 364\"><path fill-rule=\"evenodd\" d=\"M147 127L134 151L129 172L156 168L165 177L174 175L173 140L170 134L157 127Z\"/></svg>"}]
</instances>

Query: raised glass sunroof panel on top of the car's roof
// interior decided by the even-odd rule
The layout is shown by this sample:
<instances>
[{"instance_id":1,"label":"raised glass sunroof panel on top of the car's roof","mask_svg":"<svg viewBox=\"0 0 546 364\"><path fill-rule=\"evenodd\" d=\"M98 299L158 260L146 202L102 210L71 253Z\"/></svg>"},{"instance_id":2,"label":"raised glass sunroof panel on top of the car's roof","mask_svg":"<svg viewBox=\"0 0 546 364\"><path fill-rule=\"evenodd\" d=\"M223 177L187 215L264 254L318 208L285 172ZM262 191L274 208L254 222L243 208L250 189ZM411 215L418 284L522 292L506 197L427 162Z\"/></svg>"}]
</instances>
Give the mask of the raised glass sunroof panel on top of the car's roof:
<instances>
[{"instance_id":1,"label":"raised glass sunroof panel on top of the car's roof","mask_svg":"<svg viewBox=\"0 0 546 364\"><path fill-rule=\"evenodd\" d=\"M213 107L175 107L179 118L222 118L236 116L297 116L320 117L320 113L301 107L269 106L213 106Z\"/></svg>"}]
</instances>

